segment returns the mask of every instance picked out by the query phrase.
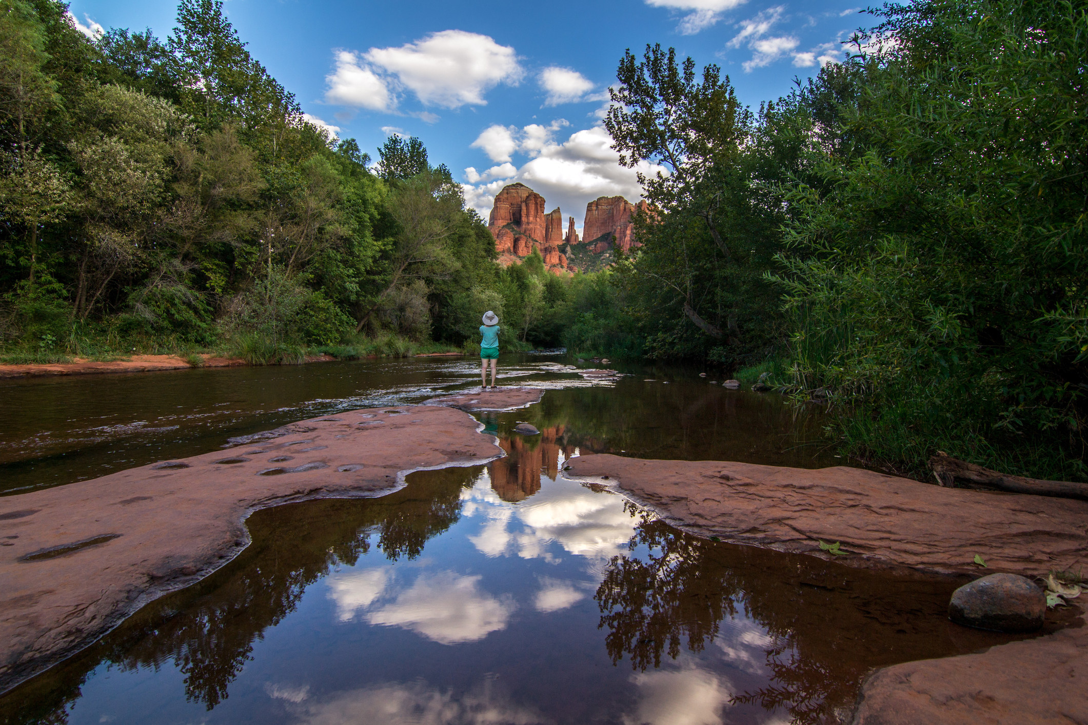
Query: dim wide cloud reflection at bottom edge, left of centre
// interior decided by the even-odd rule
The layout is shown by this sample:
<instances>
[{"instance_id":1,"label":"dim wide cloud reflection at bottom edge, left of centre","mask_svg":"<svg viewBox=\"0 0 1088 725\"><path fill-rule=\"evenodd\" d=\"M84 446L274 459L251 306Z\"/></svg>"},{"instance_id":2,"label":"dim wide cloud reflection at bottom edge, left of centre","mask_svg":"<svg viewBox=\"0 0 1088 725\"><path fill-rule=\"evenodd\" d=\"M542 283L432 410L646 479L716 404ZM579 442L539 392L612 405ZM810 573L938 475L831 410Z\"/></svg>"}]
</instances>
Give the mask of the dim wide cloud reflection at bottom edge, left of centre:
<instances>
[{"instance_id":1,"label":"dim wide cloud reflection at bottom edge, left of centre","mask_svg":"<svg viewBox=\"0 0 1088 725\"><path fill-rule=\"evenodd\" d=\"M539 725L547 721L495 693L490 682L460 698L422 680L337 692L301 708L299 725Z\"/></svg>"}]
</instances>

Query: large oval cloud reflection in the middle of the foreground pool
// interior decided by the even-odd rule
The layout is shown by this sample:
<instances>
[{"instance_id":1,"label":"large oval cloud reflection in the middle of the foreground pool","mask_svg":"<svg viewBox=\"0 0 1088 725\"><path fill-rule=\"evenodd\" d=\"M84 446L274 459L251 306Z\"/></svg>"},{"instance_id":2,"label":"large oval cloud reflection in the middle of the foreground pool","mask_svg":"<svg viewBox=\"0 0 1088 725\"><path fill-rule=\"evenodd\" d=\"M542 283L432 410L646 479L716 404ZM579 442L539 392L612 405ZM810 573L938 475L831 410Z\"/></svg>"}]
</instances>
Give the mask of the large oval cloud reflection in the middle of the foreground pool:
<instances>
[{"instance_id":1,"label":"large oval cloud reflection in the middle of the foreground pool","mask_svg":"<svg viewBox=\"0 0 1088 725\"><path fill-rule=\"evenodd\" d=\"M396 599L372 608L370 624L397 626L442 645L483 639L506 628L512 602L481 591L480 576L453 572L420 574Z\"/></svg>"}]
</instances>

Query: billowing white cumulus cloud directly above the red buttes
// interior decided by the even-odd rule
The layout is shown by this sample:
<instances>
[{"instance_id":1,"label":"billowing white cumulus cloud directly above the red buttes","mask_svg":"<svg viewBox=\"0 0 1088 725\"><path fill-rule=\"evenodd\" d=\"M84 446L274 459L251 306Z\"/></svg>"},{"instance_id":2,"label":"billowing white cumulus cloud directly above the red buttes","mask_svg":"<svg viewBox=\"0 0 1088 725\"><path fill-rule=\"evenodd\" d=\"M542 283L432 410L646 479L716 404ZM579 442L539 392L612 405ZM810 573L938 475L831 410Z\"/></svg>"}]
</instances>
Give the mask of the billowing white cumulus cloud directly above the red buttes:
<instances>
[{"instance_id":1,"label":"billowing white cumulus cloud directly above the red buttes","mask_svg":"<svg viewBox=\"0 0 1088 725\"><path fill-rule=\"evenodd\" d=\"M496 175L489 180L481 174L473 182L466 175L468 184L462 185L466 202L487 218L495 195L507 184L521 182L543 196L548 209L559 207L565 215L581 222L586 202L597 197L622 196L632 202L642 198L635 172L652 176L658 166L646 162L636 168L620 166L619 154L611 148L611 136L599 124L577 130L566 140L556 139L559 128L566 125L567 122L557 121L520 129L498 126L505 130L494 132L486 143L478 138L473 146L483 149L494 161L511 159L515 152L523 152L530 160L505 177ZM507 166L500 168L509 171Z\"/></svg>"}]
</instances>

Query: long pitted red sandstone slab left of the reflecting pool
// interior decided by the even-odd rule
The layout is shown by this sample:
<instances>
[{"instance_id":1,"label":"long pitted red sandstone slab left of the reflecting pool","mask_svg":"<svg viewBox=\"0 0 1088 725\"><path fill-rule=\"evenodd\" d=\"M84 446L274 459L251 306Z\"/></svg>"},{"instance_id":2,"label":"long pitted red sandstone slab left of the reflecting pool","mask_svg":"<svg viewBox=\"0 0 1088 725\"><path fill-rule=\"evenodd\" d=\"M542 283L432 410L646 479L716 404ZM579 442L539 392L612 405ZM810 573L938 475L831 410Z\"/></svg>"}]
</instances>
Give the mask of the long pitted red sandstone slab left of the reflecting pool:
<instances>
[{"instance_id":1,"label":"long pitted red sandstone slab left of the reflecting pool","mask_svg":"<svg viewBox=\"0 0 1088 725\"><path fill-rule=\"evenodd\" d=\"M176 461L185 467L146 465L0 498L0 691L228 562L248 545L250 512L380 496L408 472L500 455L479 427L435 405L350 411Z\"/></svg>"}]
</instances>

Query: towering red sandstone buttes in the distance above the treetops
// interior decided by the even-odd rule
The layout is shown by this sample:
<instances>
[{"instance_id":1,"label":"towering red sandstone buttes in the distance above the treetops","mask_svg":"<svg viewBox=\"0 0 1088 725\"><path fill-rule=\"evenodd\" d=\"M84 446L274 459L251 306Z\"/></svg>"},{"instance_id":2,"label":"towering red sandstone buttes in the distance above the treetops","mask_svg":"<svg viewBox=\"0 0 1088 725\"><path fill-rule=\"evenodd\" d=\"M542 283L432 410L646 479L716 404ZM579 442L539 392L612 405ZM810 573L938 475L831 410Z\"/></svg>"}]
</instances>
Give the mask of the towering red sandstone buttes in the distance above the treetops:
<instances>
[{"instance_id":1,"label":"towering red sandstone buttes in the distance above the treetops","mask_svg":"<svg viewBox=\"0 0 1088 725\"><path fill-rule=\"evenodd\" d=\"M631 216L636 210L648 211L645 201L632 204L623 197L601 197L585 207L582 239L574 230L571 216L566 235L562 232L562 212L556 208L544 213L544 197L524 184L510 184L495 195L487 220L487 228L495 237L499 262L509 264L526 258L535 248L544 264L554 272L568 270L566 254L560 245L589 243L595 254L619 247L625 252L639 242L633 238Z\"/></svg>"}]
</instances>

